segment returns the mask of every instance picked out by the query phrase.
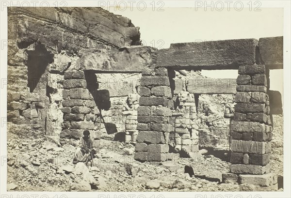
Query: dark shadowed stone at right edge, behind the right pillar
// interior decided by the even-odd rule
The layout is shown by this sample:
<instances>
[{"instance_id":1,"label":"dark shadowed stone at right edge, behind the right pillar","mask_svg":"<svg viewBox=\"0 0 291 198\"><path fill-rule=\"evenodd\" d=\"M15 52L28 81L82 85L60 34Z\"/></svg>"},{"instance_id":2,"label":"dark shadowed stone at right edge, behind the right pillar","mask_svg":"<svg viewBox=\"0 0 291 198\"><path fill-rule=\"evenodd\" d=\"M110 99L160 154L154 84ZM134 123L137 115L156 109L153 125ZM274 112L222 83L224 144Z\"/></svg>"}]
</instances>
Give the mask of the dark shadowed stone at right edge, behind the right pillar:
<instances>
[{"instance_id":1,"label":"dark shadowed stone at right edge, behind the right pillar","mask_svg":"<svg viewBox=\"0 0 291 198\"><path fill-rule=\"evenodd\" d=\"M271 109L271 114L273 115L279 115L283 113L283 108L282 108L282 96L279 91L272 91L269 90L267 91L270 99L270 109Z\"/></svg>"}]
</instances>

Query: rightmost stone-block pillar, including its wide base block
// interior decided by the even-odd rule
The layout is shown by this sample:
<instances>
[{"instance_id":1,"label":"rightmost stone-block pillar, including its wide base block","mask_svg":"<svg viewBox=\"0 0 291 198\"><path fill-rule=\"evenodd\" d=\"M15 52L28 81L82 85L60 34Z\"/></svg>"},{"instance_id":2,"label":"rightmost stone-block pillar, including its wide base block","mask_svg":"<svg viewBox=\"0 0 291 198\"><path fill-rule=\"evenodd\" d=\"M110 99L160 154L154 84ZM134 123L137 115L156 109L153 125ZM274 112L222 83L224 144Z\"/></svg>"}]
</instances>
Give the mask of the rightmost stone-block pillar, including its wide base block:
<instances>
[{"instance_id":1,"label":"rightmost stone-block pillar, including its wide base block","mask_svg":"<svg viewBox=\"0 0 291 198\"><path fill-rule=\"evenodd\" d=\"M269 173L268 165L273 128L265 66L240 66L237 84L230 172L238 175L242 191L275 189L276 175Z\"/></svg>"}]
</instances>

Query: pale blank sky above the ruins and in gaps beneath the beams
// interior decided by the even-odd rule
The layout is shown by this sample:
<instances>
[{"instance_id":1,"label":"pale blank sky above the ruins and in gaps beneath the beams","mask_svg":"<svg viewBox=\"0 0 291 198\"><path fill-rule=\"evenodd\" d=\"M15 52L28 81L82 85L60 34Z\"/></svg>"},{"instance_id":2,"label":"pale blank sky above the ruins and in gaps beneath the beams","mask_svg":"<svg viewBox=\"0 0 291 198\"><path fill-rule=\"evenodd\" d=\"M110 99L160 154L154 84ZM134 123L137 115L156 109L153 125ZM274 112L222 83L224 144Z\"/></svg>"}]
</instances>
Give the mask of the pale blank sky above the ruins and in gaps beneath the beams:
<instances>
[{"instance_id":1,"label":"pale blank sky above the ruins and in gaps beneath the beams","mask_svg":"<svg viewBox=\"0 0 291 198\"><path fill-rule=\"evenodd\" d=\"M147 8L139 11L135 8L121 11L110 7L108 10L130 18L136 27L140 27L143 44L159 49L168 48L171 43L283 35L281 8L260 8L260 11L205 11L204 8L196 11L195 8L163 8L164 11ZM237 70L204 70L202 74L213 78L238 76ZM272 70L270 78L270 89L283 93L283 70Z\"/></svg>"}]
</instances>

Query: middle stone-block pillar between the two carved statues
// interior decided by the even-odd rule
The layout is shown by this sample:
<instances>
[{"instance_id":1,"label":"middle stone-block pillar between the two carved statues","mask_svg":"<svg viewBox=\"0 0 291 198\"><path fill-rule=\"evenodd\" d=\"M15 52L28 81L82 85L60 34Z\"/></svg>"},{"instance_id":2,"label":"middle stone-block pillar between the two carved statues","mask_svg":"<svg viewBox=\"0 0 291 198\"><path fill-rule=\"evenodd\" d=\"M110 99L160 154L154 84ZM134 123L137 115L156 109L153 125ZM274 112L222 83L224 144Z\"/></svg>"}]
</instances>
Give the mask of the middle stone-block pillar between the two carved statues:
<instances>
[{"instance_id":1,"label":"middle stone-block pillar between the two carved statues","mask_svg":"<svg viewBox=\"0 0 291 198\"><path fill-rule=\"evenodd\" d=\"M169 124L174 106L167 69L143 71L140 101L137 110L137 130L134 159L138 161L162 162L172 159L168 139L173 132Z\"/></svg>"}]
</instances>

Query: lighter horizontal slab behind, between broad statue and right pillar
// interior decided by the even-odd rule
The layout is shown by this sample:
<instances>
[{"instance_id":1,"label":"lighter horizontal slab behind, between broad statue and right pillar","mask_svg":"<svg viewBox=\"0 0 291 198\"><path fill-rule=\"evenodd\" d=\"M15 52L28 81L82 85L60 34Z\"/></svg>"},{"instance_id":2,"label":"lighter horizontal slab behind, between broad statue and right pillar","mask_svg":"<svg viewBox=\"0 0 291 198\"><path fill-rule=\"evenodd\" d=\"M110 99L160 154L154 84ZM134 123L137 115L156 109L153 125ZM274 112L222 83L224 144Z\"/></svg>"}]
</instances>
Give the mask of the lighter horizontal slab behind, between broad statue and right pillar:
<instances>
[{"instance_id":1,"label":"lighter horizontal slab behind, between broad statue and right pillar","mask_svg":"<svg viewBox=\"0 0 291 198\"><path fill-rule=\"evenodd\" d=\"M187 91L190 93L236 93L235 78L194 78L188 80Z\"/></svg>"}]
</instances>

